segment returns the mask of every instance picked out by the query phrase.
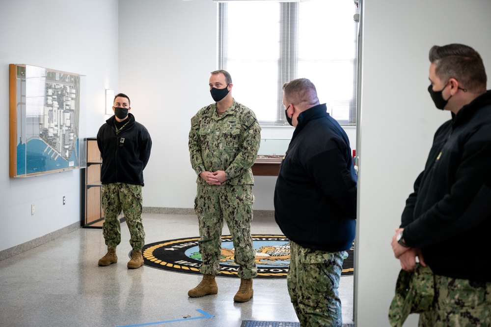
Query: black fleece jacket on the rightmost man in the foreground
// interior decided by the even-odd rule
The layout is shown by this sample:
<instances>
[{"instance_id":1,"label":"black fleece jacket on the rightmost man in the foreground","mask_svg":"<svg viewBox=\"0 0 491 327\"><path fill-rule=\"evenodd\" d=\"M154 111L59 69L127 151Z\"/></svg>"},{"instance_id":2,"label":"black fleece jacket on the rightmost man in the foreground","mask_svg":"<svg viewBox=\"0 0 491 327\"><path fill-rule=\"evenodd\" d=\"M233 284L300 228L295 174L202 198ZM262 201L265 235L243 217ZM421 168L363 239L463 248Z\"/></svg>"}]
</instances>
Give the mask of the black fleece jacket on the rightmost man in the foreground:
<instances>
[{"instance_id":1,"label":"black fleece jacket on the rightmost man in the foreground","mask_svg":"<svg viewBox=\"0 0 491 327\"><path fill-rule=\"evenodd\" d=\"M402 214L404 240L437 275L491 282L491 91L435 133Z\"/></svg>"}]
</instances>

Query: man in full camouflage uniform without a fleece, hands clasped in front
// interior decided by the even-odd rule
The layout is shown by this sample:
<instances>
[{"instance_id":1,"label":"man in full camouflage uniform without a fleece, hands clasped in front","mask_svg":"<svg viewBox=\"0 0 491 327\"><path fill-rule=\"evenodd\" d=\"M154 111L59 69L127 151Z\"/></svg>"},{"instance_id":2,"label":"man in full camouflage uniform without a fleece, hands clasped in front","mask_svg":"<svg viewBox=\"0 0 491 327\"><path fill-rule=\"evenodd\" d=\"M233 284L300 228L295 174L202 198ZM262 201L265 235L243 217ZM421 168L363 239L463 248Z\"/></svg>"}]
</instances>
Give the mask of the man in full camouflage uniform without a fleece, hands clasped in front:
<instances>
[{"instance_id":1,"label":"man in full camouflage uniform without a fleece, hands clasped in front","mask_svg":"<svg viewBox=\"0 0 491 327\"><path fill-rule=\"evenodd\" d=\"M254 113L232 97L232 78L225 70L211 73L210 92L215 103L191 118L189 152L197 178L194 210L199 223L199 252L204 275L190 297L217 294L223 219L232 235L241 286L234 297L246 302L253 296L252 278L257 275L255 250L250 235L252 177L261 128Z\"/></svg>"}]
</instances>

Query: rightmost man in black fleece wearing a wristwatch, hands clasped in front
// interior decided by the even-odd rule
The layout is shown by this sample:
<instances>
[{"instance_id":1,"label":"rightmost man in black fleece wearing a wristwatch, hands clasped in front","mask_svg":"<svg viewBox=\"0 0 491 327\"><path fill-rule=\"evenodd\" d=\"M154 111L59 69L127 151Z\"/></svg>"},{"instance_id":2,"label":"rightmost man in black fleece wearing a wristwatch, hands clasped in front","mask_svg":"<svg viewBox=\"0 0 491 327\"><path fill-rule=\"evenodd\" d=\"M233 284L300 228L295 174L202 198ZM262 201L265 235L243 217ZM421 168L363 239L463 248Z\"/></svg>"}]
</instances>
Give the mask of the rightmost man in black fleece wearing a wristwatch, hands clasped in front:
<instances>
[{"instance_id":1,"label":"rightmost man in black fleece wearing a wristwatch, hands clasped in front","mask_svg":"<svg viewBox=\"0 0 491 327\"><path fill-rule=\"evenodd\" d=\"M419 326L491 326L491 91L471 47L434 46L429 57L428 91L452 119L435 133L391 245L404 270L417 257L434 273Z\"/></svg>"}]
</instances>

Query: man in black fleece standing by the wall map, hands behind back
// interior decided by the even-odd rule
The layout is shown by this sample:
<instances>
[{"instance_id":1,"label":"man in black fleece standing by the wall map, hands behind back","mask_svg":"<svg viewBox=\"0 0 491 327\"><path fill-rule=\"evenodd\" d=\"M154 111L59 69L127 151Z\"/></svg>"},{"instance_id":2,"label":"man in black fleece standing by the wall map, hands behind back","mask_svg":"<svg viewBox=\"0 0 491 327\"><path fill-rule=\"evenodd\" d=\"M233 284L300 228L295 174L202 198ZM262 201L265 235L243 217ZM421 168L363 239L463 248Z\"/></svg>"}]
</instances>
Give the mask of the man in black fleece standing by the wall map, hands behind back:
<instances>
[{"instance_id":1,"label":"man in black fleece standing by the wall map, hands behind back","mask_svg":"<svg viewBox=\"0 0 491 327\"><path fill-rule=\"evenodd\" d=\"M97 133L97 145L102 155L102 231L108 246L108 253L99 260L99 266L109 266L118 261L116 246L121 242L119 213L123 210L133 248L128 268L134 269L143 266L141 248L145 232L141 221L141 188L152 139L145 126L136 122L129 113L130 98L126 94L116 94L112 110L114 116L106 120Z\"/></svg>"}]
</instances>

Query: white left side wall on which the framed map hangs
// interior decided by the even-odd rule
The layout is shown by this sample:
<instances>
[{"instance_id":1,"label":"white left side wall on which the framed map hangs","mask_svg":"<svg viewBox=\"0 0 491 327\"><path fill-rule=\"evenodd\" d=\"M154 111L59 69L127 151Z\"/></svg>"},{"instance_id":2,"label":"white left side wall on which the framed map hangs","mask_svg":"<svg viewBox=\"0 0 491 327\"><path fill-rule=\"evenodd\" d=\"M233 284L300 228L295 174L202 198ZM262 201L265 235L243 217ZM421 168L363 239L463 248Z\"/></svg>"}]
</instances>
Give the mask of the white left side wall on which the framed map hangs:
<instances>
[{"instance_id":1,"label":"white left side wall on which the framed map hangs","mask_svg":"<svg viewBox=\"0 0 491 327\"><path fill-rule=\"evenodd\" d=\"M82 207L80 170L9 178L9 64L86 75L81 134L95 135L104 121L104 90L118 83L117 8L117 0L0 2L0 251L80 221Z\"/></svg>"}]
</instances>

